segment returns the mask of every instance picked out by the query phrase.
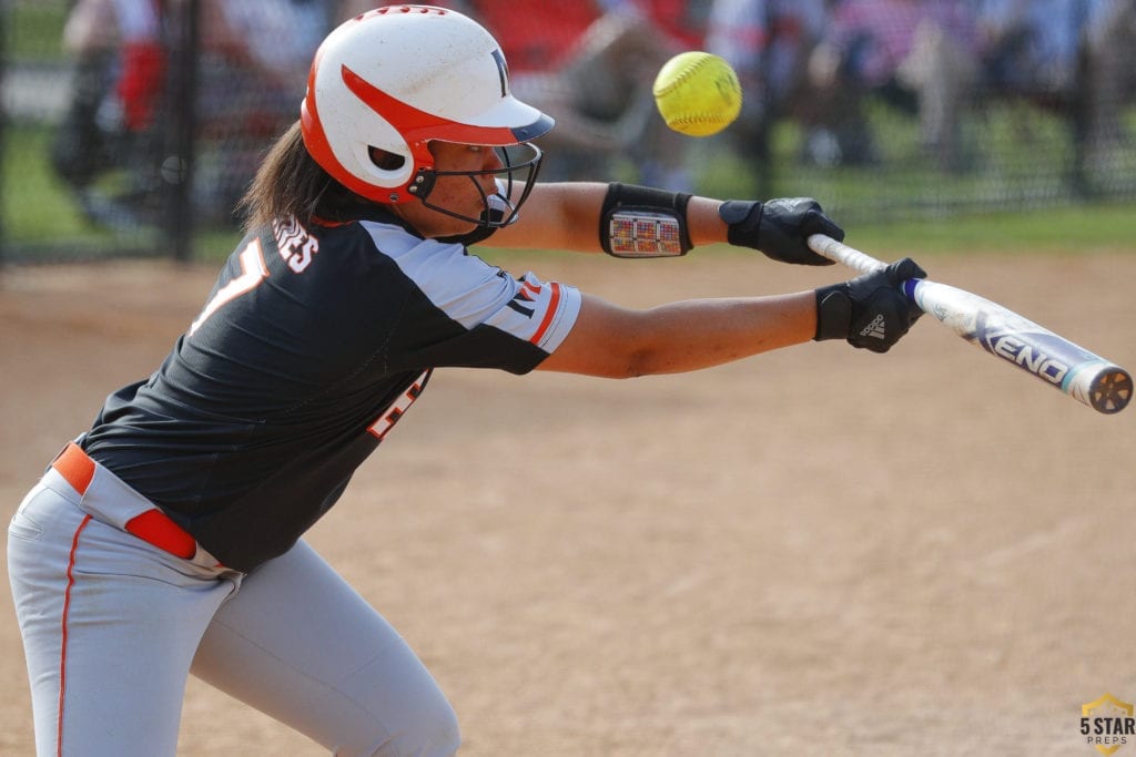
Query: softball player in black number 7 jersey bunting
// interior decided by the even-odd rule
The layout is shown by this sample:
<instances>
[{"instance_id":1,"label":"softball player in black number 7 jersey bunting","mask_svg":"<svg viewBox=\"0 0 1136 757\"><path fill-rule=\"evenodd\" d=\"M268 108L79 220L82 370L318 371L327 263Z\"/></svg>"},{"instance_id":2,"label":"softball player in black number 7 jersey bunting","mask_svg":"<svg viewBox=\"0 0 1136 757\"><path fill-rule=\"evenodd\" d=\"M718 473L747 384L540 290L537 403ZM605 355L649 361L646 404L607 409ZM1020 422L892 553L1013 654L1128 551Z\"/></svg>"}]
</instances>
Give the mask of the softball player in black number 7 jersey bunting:
<instances>
[{"instance_id":1,"label":"softball player in black number 7 jersey bunting","mask_svg":"<svg viewBox=\"0 0 1136 757\"><path fill-rule=\"evenodd\" d=\"M336 755L453 754L429 673L301 539L434 369L629 377L828 338L884 352L918 316L897 287L922 275L910 260L633 311L470 255L492 234L630 258L730 242L821 264L803 239L843 237L811 200L537 184L531 141L551 127L457 12L379 8L325 40L200 314L9 527L40 755L175 754L190 672Z\"/></svg>"}]
</instances>

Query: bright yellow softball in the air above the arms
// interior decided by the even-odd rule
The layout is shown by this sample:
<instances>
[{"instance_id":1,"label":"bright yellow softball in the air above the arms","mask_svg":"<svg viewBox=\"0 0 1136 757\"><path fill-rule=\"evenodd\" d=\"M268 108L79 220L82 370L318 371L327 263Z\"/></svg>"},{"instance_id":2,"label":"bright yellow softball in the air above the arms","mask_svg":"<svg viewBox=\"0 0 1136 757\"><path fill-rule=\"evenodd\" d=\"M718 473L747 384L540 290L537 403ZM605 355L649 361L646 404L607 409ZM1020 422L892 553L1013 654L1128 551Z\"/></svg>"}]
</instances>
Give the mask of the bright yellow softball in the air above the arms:
<instances>
[{"instance_id":1,"label":"bright yellow softball in the air above the arms","mask_svg":"<svg viewBox=\"0 0 1136 757\"><path fill-rule=\"evenodd\" d=\"M690 136L717 134L742 111L737 74L709 52L680 52L668 60L652 92L667 126Z\"/></svg>"}]
</instances>

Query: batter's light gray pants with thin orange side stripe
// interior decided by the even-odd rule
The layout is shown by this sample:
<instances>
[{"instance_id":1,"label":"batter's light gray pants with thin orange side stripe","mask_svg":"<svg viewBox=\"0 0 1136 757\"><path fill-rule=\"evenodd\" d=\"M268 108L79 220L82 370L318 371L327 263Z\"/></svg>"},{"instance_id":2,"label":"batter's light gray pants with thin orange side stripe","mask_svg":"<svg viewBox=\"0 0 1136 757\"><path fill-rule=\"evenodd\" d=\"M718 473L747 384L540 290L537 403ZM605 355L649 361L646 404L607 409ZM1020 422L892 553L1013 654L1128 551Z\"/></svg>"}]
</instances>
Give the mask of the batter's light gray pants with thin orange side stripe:
<instances>
[{"instance_id":1,"label":"batter's light gray pants with thin orange side stripe","mask_svg":"<svg viewBox=\"0 0 1136 757\"><path fill-rule=\"evenodd\" d=\"M457 751L421 662L303 541L243 574L125 530L153 505L101 465L83 488L49 468L8 530L40 757L173 756L190 672L334 755Z\"/></svg>"}]
</instances>

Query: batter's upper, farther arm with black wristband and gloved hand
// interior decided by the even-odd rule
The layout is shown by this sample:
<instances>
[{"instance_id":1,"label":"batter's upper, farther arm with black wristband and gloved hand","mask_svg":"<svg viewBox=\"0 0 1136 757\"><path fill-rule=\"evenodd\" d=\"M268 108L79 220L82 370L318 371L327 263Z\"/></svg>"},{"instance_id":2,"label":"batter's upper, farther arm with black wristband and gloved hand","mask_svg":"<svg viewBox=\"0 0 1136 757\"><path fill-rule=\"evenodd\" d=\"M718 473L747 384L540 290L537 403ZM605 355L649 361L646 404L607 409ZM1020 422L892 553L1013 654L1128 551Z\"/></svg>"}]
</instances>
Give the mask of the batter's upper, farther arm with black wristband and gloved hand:
<instances>
[{"instance_id":1,"label":"batter's upper, farther arm with black wristband and gloved hand","mask_svg":"<svg viewBox=\"0 0 1136 757\"><path fill-rule=\"evenodd\" d=\"M626 244L619 244L619 229L642 225L660 241L673 242L655 250L640 244L628 252ZM843 229L810 197L722 202L635 185L566 182L537 183L517 222L499 229L490 244L654 258L728 243L783 262L832 264L809 250L805 239L811 234L844 238Z\"/></svg>"}]
</instances>

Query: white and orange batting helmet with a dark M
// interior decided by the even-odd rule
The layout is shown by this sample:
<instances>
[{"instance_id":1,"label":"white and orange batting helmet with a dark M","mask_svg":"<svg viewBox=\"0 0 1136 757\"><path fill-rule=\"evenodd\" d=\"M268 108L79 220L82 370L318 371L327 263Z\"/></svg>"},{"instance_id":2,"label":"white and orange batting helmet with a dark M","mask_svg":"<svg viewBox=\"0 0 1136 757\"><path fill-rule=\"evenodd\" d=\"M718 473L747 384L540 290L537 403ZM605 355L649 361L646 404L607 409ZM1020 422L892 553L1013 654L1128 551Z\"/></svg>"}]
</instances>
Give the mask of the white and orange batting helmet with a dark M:
<instances>
[{"instance_id":1,"label":"white and orange batting helmet with a dark M","mask_svg":"<svg viewBox=\"0 0 1136 757\"><path fill-rule=\"evenodd\" d=\"M501 148L506 167L492 173L503 174L511 192L523 171L531 188L541 152L528 142L553 126L549 116L512 96L504 56L485 28L431 6L376 8L335 28L312 61L300 123L304 145L324 170L383 203L426 202L440 175L427 149L433 140ZM504 150L513 145L527 151L518 158L516 150ZM381 167L371 148L402 161ZM488 218L488 197L485 216L470 220L503 225L524 196L498 200L503 205L498 203L496 222ZM509 218L502 207L512 210L504 213Z\"/></svg>"}]
</instances>

